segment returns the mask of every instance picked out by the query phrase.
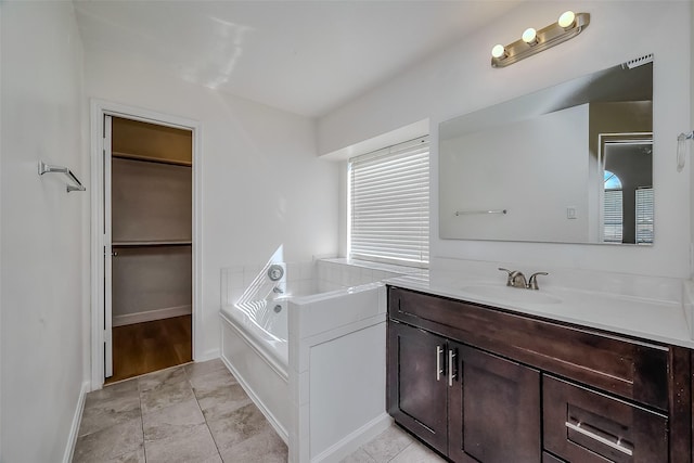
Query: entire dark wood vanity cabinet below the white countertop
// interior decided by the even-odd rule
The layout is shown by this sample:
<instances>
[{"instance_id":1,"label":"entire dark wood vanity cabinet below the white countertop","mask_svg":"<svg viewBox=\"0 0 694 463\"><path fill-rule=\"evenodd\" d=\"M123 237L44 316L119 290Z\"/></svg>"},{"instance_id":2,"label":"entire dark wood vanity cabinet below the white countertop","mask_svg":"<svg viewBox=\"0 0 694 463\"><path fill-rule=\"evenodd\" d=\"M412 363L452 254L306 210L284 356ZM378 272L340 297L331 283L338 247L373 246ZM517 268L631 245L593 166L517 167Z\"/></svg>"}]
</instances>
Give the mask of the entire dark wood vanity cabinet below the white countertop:
<instances>
[{"instance_id":1,"label":"entire dark wood vanity cabinet below the white countertop","mask_svg":"<svg viewBox=\"0 0 694 463\"><path fill-rule=\"evenodd\" d=\"M387 407L441 455L691 462L687 347L415 286L388 286Z\"/></svg>"}]
</instances>

